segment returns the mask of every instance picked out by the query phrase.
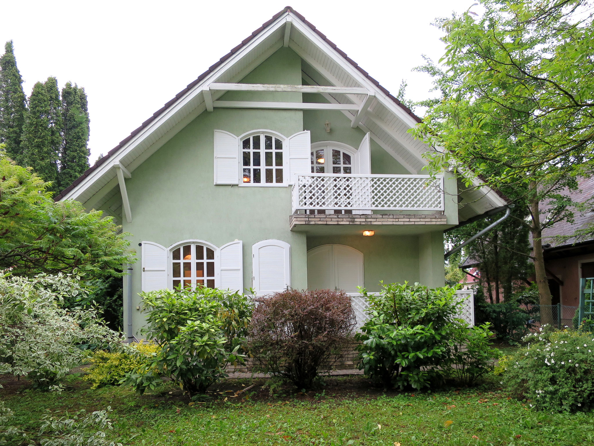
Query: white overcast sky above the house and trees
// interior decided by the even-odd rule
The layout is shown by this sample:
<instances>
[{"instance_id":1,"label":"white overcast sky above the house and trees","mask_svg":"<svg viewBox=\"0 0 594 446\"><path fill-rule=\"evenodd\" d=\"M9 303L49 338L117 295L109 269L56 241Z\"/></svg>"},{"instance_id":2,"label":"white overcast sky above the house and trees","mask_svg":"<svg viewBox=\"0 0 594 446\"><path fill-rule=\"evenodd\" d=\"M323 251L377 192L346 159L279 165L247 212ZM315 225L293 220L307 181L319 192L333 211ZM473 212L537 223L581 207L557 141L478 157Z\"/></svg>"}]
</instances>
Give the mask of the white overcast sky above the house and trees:
<instances>
[{"instance_id":1,"label":"white overcast sky above the house and trees","mask_svg":"<svg viewBox=\"0 0 594 446\"><path fill-rule=\"evenodd\" d=\"M84 87L91 118L90 162L172 99L200 73L286 6L287 0L2 2L1 52L14 40L24 90L48 76ZM444 51L436 17L472 0L288 2L396 95L428 98L431 78L411 73L422 54ZM480 12L480 7L473 11ZM10 18L10 20L8 20Z\"/></svg>"}]
</instances>

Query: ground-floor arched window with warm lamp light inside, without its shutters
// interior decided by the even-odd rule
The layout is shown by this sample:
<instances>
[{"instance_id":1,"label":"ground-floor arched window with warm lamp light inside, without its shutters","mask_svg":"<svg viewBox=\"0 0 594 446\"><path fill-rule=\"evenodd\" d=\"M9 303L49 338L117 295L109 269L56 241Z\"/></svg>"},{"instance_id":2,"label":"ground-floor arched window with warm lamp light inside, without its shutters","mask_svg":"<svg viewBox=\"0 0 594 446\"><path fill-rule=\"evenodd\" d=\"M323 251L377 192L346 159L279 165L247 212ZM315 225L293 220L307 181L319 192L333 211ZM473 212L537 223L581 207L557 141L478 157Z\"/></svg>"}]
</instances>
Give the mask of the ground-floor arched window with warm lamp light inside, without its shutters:
<instances>
[{"instance_id":1,"label":"ground-floor arched window with warm lamp light inside, without its shutters","mask_svg":"<svg viewBox=\"0 0 594 446\"><path fill-rule=\"evenodd\" d=\"M180 285L214 288L214 249L201 243L184 243L171 250L173 288Z\"/></svg>"}]
</instances>

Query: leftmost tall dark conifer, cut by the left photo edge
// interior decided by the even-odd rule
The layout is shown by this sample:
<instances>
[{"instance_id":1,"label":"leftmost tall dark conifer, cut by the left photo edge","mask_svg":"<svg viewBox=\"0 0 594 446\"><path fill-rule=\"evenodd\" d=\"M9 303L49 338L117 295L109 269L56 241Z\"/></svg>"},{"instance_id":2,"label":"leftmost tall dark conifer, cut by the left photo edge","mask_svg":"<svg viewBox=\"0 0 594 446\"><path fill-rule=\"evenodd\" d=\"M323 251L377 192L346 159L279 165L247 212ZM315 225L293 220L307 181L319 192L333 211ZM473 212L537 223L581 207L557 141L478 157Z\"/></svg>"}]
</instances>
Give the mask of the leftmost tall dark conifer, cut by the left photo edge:
<instances>
[{"instance_id":1,"label":"leftmost tall dark conifer, cut by the left photo edge","mask_svg":"<svg viewBox=\"0 0 594 446\"><path fill-rule=\"evenodd\" d=\"M6 145L8 156L19 162L27 102L12 40L4 49L5 53L0 57L0 143Z\"/></svg>"}]
</instances>

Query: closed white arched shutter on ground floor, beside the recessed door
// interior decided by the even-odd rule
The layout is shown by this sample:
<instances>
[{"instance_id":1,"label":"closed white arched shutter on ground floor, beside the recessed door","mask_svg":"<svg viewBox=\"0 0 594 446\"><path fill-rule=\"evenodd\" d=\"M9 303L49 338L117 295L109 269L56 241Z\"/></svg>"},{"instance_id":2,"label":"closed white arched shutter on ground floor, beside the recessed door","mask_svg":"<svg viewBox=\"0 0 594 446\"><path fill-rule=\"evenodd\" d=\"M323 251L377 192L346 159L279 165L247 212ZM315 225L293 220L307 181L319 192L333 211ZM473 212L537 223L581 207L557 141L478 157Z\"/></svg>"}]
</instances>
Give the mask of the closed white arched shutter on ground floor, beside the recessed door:
<instances>
[{"instance_id":1,"label":"closed white arched shutter on ground floor, beside the recessed door","mask_svg":"<svg viewBox=\"0 0 594 446\"><path fill-rule=\"evenodd\" d=\"M252 246L254 290L258 296L291 286L291 246L281 240L263 240Z\"/></svg>"}]
</instances>

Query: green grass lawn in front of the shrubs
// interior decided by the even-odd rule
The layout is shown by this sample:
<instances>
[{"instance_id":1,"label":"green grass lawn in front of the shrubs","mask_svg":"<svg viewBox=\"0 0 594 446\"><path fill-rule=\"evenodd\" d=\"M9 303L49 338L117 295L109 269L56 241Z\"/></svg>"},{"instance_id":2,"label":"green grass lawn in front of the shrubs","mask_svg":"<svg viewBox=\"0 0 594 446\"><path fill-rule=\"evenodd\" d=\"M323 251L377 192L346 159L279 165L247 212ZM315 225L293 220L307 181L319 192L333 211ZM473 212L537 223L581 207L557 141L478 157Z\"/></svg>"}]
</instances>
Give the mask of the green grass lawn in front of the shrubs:
<instances>
[{"instance_id":1,"label":"green grass lawn in front of the shrubs","mask_svg":"<svg viewBox=\"0 0 594 446\"><path fill-rule=\"evenodd\" d=\"M494 385L384 394L363 376L349 376L328 378L324 391L271 396L266 382L228 379L213 387L212 401L191 404L174 387L139 397L126 388L91 390L73 376L61 394L42 393L0 376L0 397L23 428L34 428L48 410L111 406L109 438L131 445L594 444L593 414L535 412ZM232 396L254 383L249 395Z\"/></svg>"}]
</instances>

